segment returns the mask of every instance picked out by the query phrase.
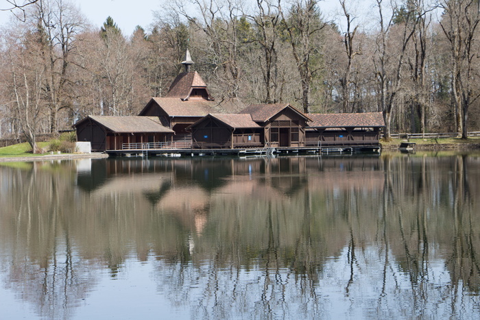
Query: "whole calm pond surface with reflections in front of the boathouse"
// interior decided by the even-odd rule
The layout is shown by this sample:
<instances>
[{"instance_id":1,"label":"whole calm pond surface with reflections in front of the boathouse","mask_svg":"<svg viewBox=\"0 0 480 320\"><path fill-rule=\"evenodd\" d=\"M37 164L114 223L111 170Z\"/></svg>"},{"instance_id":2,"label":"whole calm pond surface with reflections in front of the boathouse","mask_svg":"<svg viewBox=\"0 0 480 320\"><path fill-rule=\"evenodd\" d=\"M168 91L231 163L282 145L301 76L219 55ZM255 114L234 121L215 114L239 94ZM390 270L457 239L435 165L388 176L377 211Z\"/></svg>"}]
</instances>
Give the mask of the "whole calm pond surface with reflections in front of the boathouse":
<instances>
[{"instance_id":1,"label":"whole calm pond surface with reflections in front of the boathouse","mask_svg":"<svg viewBox=\"0 0 480 320\"><path fill-rule=\"evenodd\" d=\"M1 319L480 317L480 156L0 165Z\"/></svg>"}]
</instances>

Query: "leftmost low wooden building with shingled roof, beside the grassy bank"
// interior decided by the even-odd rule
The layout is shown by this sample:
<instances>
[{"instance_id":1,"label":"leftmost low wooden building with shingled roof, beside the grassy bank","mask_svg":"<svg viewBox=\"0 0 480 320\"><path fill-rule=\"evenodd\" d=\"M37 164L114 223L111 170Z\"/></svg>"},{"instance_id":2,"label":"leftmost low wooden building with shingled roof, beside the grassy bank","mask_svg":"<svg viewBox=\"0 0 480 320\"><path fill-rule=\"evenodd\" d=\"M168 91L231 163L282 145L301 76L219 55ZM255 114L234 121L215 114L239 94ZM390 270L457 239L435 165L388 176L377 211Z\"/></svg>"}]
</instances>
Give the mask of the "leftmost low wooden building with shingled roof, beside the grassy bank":
<instances>
[{"instance_id":1,"label":"leftmost low wooden building with shingled roof, beside the grassy bank","mask_svg":"<svg viewBox=\"0 0 480 320\"><path fill-rule=\"evenodd\" d=\"M170 141L173 130L156 116L87 116L73 125L78 141L90 141L92 151L121 150L124 143Z\"/></svg>"}]
</instances>

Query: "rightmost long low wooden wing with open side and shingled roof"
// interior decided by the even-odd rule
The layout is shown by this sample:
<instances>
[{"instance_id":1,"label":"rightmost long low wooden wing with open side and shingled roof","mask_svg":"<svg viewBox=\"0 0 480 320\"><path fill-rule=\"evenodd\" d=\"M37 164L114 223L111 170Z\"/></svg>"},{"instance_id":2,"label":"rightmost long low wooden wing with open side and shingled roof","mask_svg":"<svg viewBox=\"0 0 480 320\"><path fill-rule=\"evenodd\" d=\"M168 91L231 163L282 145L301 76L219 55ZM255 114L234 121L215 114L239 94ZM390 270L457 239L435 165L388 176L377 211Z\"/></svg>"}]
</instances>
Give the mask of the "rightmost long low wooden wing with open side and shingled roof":
<instances>
[{"instance_id":1,"label":"rightmost long low wooden wing with open side and shingled roof","mask_svg":"<svg viewBox=\"0 0 480 320\"><path fill-rule=\"evenodd\" d=\"M385 122L381 112L309 114L307 146L378 146Z\"/></svg>"}]
</instances>

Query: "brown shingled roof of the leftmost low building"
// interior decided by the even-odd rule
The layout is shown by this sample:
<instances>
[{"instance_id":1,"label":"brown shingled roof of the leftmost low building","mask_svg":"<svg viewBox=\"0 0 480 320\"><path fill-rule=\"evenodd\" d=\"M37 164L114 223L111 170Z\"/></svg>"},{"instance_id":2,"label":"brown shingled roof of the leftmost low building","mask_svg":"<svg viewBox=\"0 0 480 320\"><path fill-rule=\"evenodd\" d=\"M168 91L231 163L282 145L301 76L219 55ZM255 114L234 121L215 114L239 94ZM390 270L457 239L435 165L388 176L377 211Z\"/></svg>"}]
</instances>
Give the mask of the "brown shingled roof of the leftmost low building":
<instances>
[{"instance_id":1,"label":"brown shingled roof of the leftmost low building","mask_svg":"<svg viewBox=\"0 0 480 320\"><path fill-rule=\"evenodd\" d=\"M75 123L74 126L77 127L77 125L88 118L107 127L112 132L173 133L173 130L161 125L157 116L87 116Z\"/></svg>"}]
</instances>

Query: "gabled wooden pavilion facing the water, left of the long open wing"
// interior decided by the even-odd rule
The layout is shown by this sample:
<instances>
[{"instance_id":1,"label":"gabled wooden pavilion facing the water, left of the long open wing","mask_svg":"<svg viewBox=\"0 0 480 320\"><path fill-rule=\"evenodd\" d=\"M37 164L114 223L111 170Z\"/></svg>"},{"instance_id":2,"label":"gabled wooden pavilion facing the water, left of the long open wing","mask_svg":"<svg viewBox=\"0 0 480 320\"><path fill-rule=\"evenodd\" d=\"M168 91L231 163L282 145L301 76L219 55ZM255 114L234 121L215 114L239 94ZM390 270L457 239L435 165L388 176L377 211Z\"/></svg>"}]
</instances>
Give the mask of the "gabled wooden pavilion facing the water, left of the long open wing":
<instances>
[{"instance_id":1,"label":"gabled wooden pavilion facing the water, left of the long open wing","mask_svg":"<svg viewBox=\"0 0 480 320\"><path fill-rule=\"evenodd\" d=\"M268 147L304 147L305 127L309 117L289 103L257 104L242 113L263 127L264 145Z\"/></svg>"}]
</instances>

